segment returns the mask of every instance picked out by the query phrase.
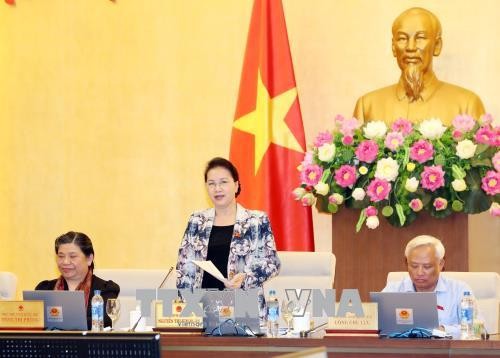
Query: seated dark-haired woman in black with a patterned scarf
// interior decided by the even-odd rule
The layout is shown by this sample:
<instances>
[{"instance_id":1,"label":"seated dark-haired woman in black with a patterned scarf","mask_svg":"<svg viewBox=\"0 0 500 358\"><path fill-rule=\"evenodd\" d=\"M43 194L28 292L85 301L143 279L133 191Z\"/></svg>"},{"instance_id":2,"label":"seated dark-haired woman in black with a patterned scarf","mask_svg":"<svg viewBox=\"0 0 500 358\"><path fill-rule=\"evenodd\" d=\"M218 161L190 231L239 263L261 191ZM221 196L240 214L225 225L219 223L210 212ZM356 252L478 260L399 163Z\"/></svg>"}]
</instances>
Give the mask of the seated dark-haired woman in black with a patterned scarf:
<instances>
[{"instance_id":1,"label":"seated dark-haired woman in black with a patterned scarf","mask_svg":"<svg viewBox=\"0 0 500 358\"><path fill-rule=\"evenodd\" d=\"M87 310L87 326L92 327L91 300L94 290L101 290L104 307L110 298L117 298L120 286L105 281L92 272L94 270L94 247L90 238L80 232L67 232L55 242L56 262L61 276L55 280L40 282L35 290L84 291ZM104 326L111 326L111 319L104 315Z\"/></svg>"}]
</instances>

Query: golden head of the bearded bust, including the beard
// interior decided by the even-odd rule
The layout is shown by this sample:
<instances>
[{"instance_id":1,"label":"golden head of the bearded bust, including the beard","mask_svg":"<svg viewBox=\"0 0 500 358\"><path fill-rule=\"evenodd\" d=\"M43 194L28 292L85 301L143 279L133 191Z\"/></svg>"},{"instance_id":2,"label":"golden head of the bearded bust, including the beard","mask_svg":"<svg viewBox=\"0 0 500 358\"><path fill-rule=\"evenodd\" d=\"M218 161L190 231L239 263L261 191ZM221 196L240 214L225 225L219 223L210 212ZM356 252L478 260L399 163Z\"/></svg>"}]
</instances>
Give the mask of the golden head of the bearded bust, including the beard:
<instances>
[{"instance_id":1,"label":"golden head of the bearded bust, including the beard","mask_svg":"<svg viewBox=\"0 0 500 358\"><path fill-rule=\"evenodd\" d=\"M410 101L420 97L424 76L432 73L432 58L439 56L442 46L441 24L432 12L415 7L394 20L392 53L402 71Z\"/></svg>"}]
</instances>

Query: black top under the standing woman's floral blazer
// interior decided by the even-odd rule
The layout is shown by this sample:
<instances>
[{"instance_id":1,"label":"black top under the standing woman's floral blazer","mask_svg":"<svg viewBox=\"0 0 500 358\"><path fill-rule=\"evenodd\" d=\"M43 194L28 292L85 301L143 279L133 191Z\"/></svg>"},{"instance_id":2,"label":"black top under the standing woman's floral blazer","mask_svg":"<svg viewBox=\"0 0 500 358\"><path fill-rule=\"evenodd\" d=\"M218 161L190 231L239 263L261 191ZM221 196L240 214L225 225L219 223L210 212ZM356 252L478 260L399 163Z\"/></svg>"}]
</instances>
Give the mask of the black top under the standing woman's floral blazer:
<instances>
[{"instance_id":1,"label":"black top under the standing woman's floral blazer","mask_svg":"<svg viewBox=\"0 0 500 358\"><path fill-rule=\"evenodd\" d=\"M210 260L227 277L227 260L229 257L229 247L233 237L234 225L213 226L208 239L207 261ZM203 274L201 288L218 288L223 290L224 283L210 275Z\"/></svg>"}]
</instances>

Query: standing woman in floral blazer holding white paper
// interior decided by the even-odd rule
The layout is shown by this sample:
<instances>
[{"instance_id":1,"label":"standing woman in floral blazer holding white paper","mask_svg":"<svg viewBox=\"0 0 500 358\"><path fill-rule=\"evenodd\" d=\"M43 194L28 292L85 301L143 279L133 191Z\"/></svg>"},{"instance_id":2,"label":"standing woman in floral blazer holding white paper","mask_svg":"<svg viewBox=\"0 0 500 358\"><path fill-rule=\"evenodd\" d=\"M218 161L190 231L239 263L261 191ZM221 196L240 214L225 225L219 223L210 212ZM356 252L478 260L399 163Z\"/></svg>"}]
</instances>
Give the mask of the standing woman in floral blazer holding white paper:
<instances>
[{"instance_id":1,"label":"standing woman in floral blazer holding white paper","mask_svg":"<svg viewBox=\"0 0 500 358\"><path fill-rule=\"evenodd\" d=\"M262 285L280 268L269 218L236 203L241 184L227 159L208 162L205 184L214 207L189 218L177 260L177 288L260 288L262 316ZM204 275L192 260L211 260L229 282Z\"/></svg>"}]
</instances>

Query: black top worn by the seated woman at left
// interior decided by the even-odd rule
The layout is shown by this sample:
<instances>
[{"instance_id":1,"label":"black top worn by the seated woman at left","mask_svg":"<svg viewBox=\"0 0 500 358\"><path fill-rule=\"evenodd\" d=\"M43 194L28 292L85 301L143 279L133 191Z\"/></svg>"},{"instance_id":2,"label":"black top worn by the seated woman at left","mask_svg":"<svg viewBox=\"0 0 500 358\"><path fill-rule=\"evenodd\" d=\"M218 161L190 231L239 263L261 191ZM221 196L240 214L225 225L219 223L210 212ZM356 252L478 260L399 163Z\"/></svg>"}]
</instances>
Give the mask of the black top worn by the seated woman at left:
<instances>
[{"instance_id":1,"label":"black top worn by the seated woman at left","mask_svg":"<svg viewBox=\"0 0 500 358\"><path fill-rule=\"evenodd\" d=\"M45 280L36 285L35 290L53 290L56 285L56 280ZM68 290L68 284L64 280L64 290ZM109 298L117 298L120 293L120 286L113 281L105 281L102 278L92 275L92 286L90 287L89 302L87 303L87 327L92 328L92 297L94 290L101 290L101 296L104 300L104 327L111 326L111 318L106 314L106 302Z\"/></svg>"}]
</instances>

